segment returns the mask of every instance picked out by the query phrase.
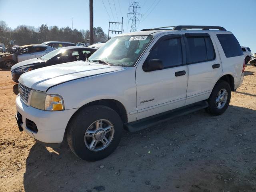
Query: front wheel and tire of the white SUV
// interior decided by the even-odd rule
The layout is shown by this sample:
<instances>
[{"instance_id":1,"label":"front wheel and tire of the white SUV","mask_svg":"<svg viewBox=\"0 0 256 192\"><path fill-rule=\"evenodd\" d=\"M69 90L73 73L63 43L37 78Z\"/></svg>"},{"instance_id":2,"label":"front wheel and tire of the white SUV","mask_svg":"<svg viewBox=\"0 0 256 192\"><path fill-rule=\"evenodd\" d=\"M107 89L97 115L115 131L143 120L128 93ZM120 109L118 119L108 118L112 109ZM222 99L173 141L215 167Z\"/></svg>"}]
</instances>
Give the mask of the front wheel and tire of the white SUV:
<instances>
[{"instance_id":1,"label":"front wheel and tire of the white SUV","mask_svg":"<svg viewBox=\"0 0 256 192\"><path fill-rule=\"evenodd\" d=\"M96 129L99 120L102 120L102 123L98 123L98 129ZM114 131L103 133L102 129L111 127L111 125ZM94 133L89 134L90 131ZM68 145L72 152L81 159L97 161L114 152L120 142L122 131L123 123L116 111L102 105L88 106L82 108L70 120L67 128ZM102 135L104 138L100 140ZM106 141L105 138L110 141L108 145L103 144ZM90 149L93 140L97 141L97 144L95 148L92 145Z\"/></svg>"}]
</instances>

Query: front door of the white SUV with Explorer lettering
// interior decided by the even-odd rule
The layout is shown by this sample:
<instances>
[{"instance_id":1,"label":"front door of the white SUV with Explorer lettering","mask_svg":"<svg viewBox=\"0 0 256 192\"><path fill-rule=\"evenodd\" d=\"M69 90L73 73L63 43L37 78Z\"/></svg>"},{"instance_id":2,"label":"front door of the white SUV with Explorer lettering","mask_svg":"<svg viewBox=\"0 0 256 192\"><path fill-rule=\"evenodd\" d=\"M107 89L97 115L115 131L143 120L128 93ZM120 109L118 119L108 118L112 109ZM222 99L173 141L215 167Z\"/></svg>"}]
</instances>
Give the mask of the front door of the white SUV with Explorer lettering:
<instances>
[{"instance_id":1,"label":"front door of the white SUV with Explorer lettering","mask_svg":"<svg viewBox=\"0 0 256 192\"><path fill-rule=\"evenodd\" d=\"M183 49L183 50L182 50ZM144 71L142 63L136 68L137 120L184 106L188 84L188 66L180 34L162 36L141 62L161 60L162 70Z\"/></svg>"}]
</instances>

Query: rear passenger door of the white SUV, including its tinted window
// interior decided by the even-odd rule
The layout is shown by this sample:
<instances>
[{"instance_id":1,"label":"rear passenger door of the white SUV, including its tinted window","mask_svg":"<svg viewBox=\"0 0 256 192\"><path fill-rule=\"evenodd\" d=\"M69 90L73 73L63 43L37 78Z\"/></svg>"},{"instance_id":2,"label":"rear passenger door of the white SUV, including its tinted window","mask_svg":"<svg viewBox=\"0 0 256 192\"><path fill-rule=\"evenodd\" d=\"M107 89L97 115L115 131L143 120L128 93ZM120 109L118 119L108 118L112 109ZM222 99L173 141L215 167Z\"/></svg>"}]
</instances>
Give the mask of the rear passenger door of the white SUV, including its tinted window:
<instances>
[{"instance_id":1,"label":"rear passenger door of the white SUV, including its tinted window","mask_svg":"<svg viewBox=\"0 0 256 192\"><path fill-rule=\"evenodd\" d=\"M186 105L210 96L216 81L222 75L222 63L210 32L183 31L188 64Z\"/></svg>"}]
</instances>

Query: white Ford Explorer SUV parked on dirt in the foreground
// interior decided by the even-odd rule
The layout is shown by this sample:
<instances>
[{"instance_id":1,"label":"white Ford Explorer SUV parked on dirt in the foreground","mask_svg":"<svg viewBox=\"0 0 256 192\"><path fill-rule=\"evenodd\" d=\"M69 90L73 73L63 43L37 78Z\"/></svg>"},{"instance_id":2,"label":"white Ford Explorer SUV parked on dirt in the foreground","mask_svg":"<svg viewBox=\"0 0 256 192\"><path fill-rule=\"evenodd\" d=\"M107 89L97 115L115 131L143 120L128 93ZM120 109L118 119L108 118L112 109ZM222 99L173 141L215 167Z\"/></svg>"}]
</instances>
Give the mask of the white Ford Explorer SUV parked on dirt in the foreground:
<instances>
[{"instance_id":1,"label":"white Ford Explorer SUV parked on dirt in the foreground","mask_svg":"<svg viewBox=\"0 0 256 192\"><path fill-rule=\"evenodd\" d=\"M137 131L203 108L222 114L244 67L240 44L222 27L121 34L86 62L22 74L16 119L46 146L59 146L66 132L74 154L95 161L116 149L123 128Z\"/></svg>"}]
</instances>

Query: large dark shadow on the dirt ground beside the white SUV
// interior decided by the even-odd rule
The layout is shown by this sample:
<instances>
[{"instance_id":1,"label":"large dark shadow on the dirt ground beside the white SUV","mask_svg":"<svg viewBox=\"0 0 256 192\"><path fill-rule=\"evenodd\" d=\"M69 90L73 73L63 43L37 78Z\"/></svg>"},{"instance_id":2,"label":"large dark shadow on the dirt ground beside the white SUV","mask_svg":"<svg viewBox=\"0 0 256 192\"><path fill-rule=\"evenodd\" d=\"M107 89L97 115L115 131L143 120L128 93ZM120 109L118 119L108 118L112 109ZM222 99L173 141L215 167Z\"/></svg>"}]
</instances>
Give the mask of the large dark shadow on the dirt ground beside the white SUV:
<instances>
[{"instance_id":1,"label":"large dark shadow on the dirt ground beside the white SUV","mask_svg":"<svg viewBox=\"0 0 256 192\"><path fill-rule=\"evenodd\" d=\"M250 121L255 118L256 110L238 106L229 106L221 116L210 116L200 110L140 132L124 132L115 152L97 162L76 157L66 140L54 150L36 143L26 159L24 189L162 192L180 188L189 192L249 192L256 185L255 180L238 182L242 176L232 174L250 167L244 159L256 159L256 153L251 152L256 145L244 153L244 146L236 143L236 135L241 132L255 138L255 121ZM220 166L223 162L225 166ZM218 174L223 174L222 178L230 175L234 182L220 182L216 179ZM253 176L247 174L244 178Z\"/></svg>"}]
</instances>

